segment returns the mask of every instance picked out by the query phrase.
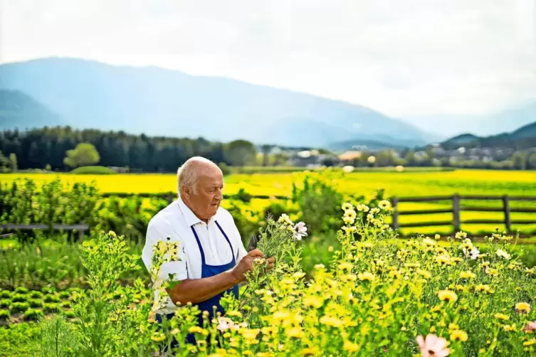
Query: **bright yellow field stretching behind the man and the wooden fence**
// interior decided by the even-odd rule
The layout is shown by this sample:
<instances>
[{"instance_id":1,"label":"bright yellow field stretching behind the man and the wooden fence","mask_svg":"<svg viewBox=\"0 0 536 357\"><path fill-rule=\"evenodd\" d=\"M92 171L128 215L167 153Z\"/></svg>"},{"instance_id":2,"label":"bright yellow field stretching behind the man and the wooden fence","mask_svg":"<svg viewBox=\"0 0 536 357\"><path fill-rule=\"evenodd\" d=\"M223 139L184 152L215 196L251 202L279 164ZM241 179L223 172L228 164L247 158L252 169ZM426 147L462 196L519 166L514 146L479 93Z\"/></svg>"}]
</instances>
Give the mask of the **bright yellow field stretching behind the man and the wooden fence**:
<instances>
[{"instance_id":1,"label":"bright yellow field stretching behind the man and the wooden fence","mask_svg":"<svg viewBox=\"0 0 536 357\"><path fill-rule=\"evenodd\" d=\"M233 194L244 188L253 195L290 196L293 180L300 181L303 173L270 173L270 174L231 174L226 177L224 192ZM105 193L160 193L176 191L176 176L173 174L117 174L117 175L75 175L75 174L0 174L0 182L9 183L15 179L33 179L36 183L51 181L61 177L65 182L97 183L100 191ZM357 171L351 174L340 173L334 183L343 193L368 195L384 188L387 196L432 196L479 194L479 195L515 195L536 196L536 171L490 171L490 170L456 170L456 171ZM462 201L463 206L495 206L501 207L500 201ZM400 210L449 208L445 203L401 203ZM266 206L266 200L253 200L251 208L258 210ZM536 202L513 202L513 208L536 208ZM400 223L451 220L450 213L436 215L408 215L400 218ZM461 220L468 219L503 219L503 213L497 212L462 212ZM536 213L512 213L512 219L534 219ZM464 230L473 233L487 232L495 229L495 225L463 225ZM503 230L503 225L498 225ZM513 226L523 233L536 230L536 225ZM448 233L448 226L432 228L412 228L402 230L403 233Z\"/></svg>"}]
</instances>

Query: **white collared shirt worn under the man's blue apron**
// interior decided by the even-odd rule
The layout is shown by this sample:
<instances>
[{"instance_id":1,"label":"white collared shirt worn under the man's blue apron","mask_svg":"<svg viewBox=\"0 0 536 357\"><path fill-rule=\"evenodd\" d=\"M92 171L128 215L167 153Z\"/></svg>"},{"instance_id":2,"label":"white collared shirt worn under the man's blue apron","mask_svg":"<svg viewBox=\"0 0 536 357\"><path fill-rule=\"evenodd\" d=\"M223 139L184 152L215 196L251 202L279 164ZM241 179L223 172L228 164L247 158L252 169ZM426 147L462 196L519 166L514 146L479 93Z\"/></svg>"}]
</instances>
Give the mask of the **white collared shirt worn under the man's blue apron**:
<instances>
[{"instance_id":1,"label":"white collared shirt worn under the man's blue apron","mask_svg":"<svg viewBox=\"0 0 536 357\"><path fill-rule=\"evenodd\" d=\"M233 220L233 216L224 208L218 208L216 215L206 224L184 204L181 198L169 204L162 211L154 215L147 227L147 236L142 252L142 260L147 270L151 271L152 250L159 240L179 242L179 261L164 263L160 269L160 277L174 274L174 279L201 279L201 252L196 242L191 226L194 226L199 243L203 247L205 263L207 265L224 265L232 260L231 248L227 240L216 225L218 221L227 238L233 246L236 263L247 255L240 233ZM155 291L155 299L158 292ZM157 311L158 314L170 314L177 310L168 297L167 308Z\"/></svg>"}]
</instances>

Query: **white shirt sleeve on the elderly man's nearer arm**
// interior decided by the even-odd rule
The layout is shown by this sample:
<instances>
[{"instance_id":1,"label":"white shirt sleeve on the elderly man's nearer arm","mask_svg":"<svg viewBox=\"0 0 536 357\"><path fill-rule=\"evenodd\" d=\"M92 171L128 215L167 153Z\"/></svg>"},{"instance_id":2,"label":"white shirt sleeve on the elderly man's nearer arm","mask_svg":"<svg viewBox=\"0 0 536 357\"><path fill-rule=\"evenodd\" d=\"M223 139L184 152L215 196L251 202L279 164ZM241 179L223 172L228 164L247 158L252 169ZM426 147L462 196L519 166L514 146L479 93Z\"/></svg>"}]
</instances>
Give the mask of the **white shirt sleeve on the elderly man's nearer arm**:
<instances>
[{"instance_id":1,"label":"white shirt sleeve on the elderly man's nearer arm","mask_svg":"<svg viewBox=\"0 0 536 357\"><path fill-rule=\"evenodd\" d=\"M188 270L186 265L186 253L184 252L184 243L182 240L174 233L171 225L167 222L162 221L151 221L147 227L147 235L145 238L145 245L142 251L142 260L143 264L147 268L147 271L151 272L152 270L152 257L154 255L154 245L158 243L159 240L168 240L171 242L179 243L179 257L178 260L172 262L165 262L160 267L158 272L159 279L180 281L188 279ZM154 282L154 277L151 277Z\"/></svg>"}]
</instances>

